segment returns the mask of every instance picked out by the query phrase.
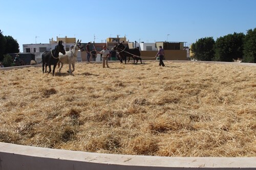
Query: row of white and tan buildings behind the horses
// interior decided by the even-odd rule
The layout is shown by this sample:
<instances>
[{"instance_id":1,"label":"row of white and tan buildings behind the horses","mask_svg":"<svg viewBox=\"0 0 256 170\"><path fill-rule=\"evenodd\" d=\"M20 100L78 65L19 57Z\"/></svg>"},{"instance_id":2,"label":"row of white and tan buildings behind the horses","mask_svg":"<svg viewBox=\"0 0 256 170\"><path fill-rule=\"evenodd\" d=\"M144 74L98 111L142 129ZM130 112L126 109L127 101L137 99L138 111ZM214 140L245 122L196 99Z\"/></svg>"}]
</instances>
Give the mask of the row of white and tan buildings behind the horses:
<instances>
[{"instance_id":1,"label":"row of white and tan buildings behind the horses","mask_svg":"<svg viewBox=\"0 0 256 170\"><path fill-rule=\"evenodd\" d=\"M42 53L45 51L51 51L55 48L58 44L58 41L62 40L62 45L66 51L71 50L71 46L76 43L76 38L68 38L67 36L64 38L56 37L56 40L53 38L49 39L49 43L39 43L39 44L23 44L23 51L26 53L32 53L35 55L35 61L37 63L41 62ZM155 55L159 50L159 46L161 45L165 50L165 59L166 60L187 60L187 50L184 48L184 42L155 42L155 43L138 43L138 42L129 42L126 40L126 37L119 37L116 38L106 38L105 43L92 43L90 45L90 50L96 48L99 52L103 49L103 45L106 45L107 48L111 51L112 48L115 46L116 43L122 42L125 46L129 48L138 47L141 51L141 56L145 56L145 60L148 60L148 57L155 60ZM88 42L82 43L84 47L86 47ZM78 51L77 54L77 61L87 61L87 54L85 51L81 52ZM143 58L142 58L143 59ZM151 59L149 59L151 60ZM97 55L96 61L101 61L100 54Z\"/></svg>"}]
</instances>

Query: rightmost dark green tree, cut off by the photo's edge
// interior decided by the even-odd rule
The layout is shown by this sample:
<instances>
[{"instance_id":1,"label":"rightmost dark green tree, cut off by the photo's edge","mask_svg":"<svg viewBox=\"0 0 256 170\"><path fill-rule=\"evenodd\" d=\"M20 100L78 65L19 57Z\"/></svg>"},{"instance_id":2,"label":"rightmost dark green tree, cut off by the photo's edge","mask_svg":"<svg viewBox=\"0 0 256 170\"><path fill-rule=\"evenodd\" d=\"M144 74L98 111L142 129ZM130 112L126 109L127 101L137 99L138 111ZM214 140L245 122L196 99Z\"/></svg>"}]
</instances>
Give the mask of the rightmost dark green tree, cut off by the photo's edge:
<instances>
[{"instance_id":1,"label":"rightmost dark green tree, cut off by the photo's edge","mask_svg":"<svg viewBox=\"0 0 256 170\"><path fill-rule=\"evenodd\" d=\"M243 62L256 63L256 28L248 30L244 38Z\"/></svg>"}]
</instances>

